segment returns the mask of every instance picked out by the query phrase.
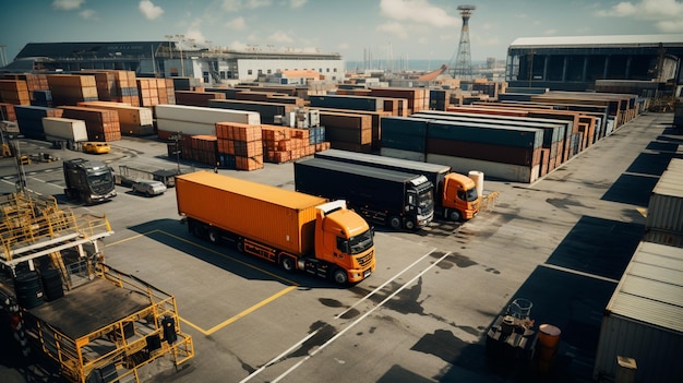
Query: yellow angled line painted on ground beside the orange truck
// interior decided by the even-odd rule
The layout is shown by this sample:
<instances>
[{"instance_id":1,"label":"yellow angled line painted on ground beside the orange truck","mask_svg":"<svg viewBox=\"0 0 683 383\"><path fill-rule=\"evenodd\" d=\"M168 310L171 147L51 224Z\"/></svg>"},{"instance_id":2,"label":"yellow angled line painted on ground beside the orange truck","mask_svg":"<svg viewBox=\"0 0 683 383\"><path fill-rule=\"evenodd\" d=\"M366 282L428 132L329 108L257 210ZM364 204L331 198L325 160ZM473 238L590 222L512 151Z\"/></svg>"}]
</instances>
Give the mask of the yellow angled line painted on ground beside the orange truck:
<instances>
[{"instance_id":1,"label":"yellow angled line painted on ground beside the orange truck","mask_svg":"<svg viewBox=\"0 0 683 383\"><path fill-rule=\"evenodd\" d=\"M244 261L242 261L242 260L238 260L238 259L232 258L232 256L230 256L230 255L227 255L227 254L220 253L220 252L218 252L218 251L215 251L215 250L213 250L213 249L209 249L209 248L206 248L206 247L204 247L204 246L197 244L196 242L193 242L193 241L187 240L187 239L184 239L184 238L182 238L182 237L178 237L178 236L176 236L176 235L172 235L172 234L170 234L170 232L164 231L164 230L161 230L161 229L154 229L154 230L149 230L149 231L146 231L146 232L143 232L143 234L139 234L139 235L135 235L135 236L131 236L131 237L129 237L129 238L124 238L124 239L118 240L118 241L116 241L116 242L107 243L107 244L106 244L106 247L112 247L112 246L116 246L116 244L119 244L119 243L123 243L123 242L128 242L128 241L130 241L130 240L137 239L137 238L141 238L141 237L147 237L147 236L149 236L149 235L152 235L152 234L155 234L155 232L159 232L159 234L163 234L163 235L165 235L165 236L171 237L171 238L173 238L173 239L176 239L176 240L179 240L179 241L182 241L182 242L185 242L185 243L192 244L192 246L194 246L194 247L196 247L196 248L200 248L200 249L205 250L205 251L208 251L208 252L211 252L211 253L213 253L213 254L216 254L216 255L223 256L223 258L228 259L228 260L230 260L230 261L237 262L237 263L239 263L239 264L241 264L241 265L243 265L243 266L247 266L247 267L253 268L253 270L255 270L255 271L259 271L259 272L261 272L261 273L263 273L263 274L269 275L269 276L272 276L272 277L274 277L274 278L276 278L276 279L279 279L279 280L286 282L287 284L290 284L290 285L291 285L291 286L286 287L285 289L283 289L283 290L278 291L278 292L276 292L276 294L272 295L271 297L268 297L268 298L266 298L266 299L262 300L261 302L259 302L259 303L256 303L256 304L254 304L254 306L252 306L252 307L250 307L250 308L248 308L248 309L243 310L242 312L238 313L237 315L233 315L232 318L229 318L229 319L225 320L224 322L221 322L221 323L219 323L219 324L217 324L217 325L215 325L215 326L211 327L209 330L204 330L204 328L202 328L202 327L197 326L196 324L194 324L194 323L192 323L192 322L190 322L190 321L185 320L184 318L181 318L180 315L178 316L178 318L180 318L180 320L181 320L182 322L184 322L185 324L188 324L189 326L191 326L192 328L194 328L194 330L199 331L200 333L202 333L202 334L204 334L204 335L212 335L213 333L217 332L218 330L220 330L220 328L223 328L223 327L225 327L225 326L227 326L227 325L229 325L229 324L233 323L235 321L237 321L237 320L239 320L239 319L241 319L241 318L243 318L243 316L249 315L250 313L252 313L252 312L254 312L254 311L259 310L260 308L262 308L262 307L264 307L264 306L268 304L269 302L272 302L272 301L274 301L274 300L278 299L279 297L281 297L281 296L286 295L287 292L292 291L292 290L295 290L296 288L298 288L298 287L299 287L299 285L298 285L297 283L295 283L295 282L292 282L292 280L289 280L289 279L287 279L287 278L283 278L281 276L277 275L277 274L273 274L273 273L271 273L271 272L268 272L268 271L265 271L265 270L263 270L263 268L260 268L260 267L256 267L256 266L254 266L254 265L252 265L252 264L249 264L249 263L247 263L247 262L244 262Z\"/></svg>"}]
</instances>

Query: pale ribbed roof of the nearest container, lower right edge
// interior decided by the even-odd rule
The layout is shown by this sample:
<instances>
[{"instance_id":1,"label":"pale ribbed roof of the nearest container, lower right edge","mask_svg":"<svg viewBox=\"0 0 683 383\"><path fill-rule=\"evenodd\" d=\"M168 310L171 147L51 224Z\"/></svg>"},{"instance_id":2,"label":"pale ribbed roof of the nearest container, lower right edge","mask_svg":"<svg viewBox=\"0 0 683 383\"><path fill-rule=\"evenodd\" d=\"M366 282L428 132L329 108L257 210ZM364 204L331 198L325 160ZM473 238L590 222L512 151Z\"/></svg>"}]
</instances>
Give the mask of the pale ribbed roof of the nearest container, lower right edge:
<instances>
[{"instance_id":1,"label":"pale ribbed roof of the nearest container, lower right edge","mask_svg":"<svg viewBox=\"0 0 683 383\"><path fill-rule=\"evenodd\" d=\"M683 248L640 242L607 311L683 334Z\"/></svg>"}]
</instances>

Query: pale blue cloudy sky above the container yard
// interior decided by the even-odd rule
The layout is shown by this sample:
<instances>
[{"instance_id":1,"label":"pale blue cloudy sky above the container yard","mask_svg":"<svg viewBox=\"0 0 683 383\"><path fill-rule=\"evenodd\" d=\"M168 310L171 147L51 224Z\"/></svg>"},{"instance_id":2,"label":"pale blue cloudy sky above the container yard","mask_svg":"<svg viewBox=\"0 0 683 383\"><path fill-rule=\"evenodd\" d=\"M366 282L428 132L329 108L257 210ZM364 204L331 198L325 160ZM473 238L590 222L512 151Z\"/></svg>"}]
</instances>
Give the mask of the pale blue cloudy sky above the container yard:
<instances>
[{"instance_id":1,"label":"pale blue cloudy sky above the container yard","mask_svg":"<svg viewBox=\"0 0 683 383\"><path fill-rule=\"evenodd\" d=\"M12 61L28 43L182 35L206 48L448 63L463 27L457 7L465 4L475 7L472 62L505 59L518 37L683 34L683 0L7 0L0 47Z\"/></svg>"}]
</instances>

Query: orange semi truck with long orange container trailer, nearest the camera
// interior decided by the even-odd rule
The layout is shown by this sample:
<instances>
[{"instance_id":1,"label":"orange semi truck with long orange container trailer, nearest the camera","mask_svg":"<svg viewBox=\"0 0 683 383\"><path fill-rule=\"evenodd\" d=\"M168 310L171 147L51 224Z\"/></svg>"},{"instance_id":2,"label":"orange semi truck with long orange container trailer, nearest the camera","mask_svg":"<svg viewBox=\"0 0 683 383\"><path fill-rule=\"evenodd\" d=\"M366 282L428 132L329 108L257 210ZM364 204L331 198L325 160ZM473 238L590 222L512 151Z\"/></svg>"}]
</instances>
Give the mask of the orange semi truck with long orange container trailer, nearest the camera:
<instances>
[{"instance_id":1,"label":"orange semi truck with long orange container trailer, nearest the camera","mask_svg":"<svg viewBox=\"0 0 683 383\"><path fill-rule=\"evenodd\" d=\"M211 171L176 177L178 213L209 242L339 285L374 272L373 231L346 207L325 199Z\"/></svg>"}]
</instances>

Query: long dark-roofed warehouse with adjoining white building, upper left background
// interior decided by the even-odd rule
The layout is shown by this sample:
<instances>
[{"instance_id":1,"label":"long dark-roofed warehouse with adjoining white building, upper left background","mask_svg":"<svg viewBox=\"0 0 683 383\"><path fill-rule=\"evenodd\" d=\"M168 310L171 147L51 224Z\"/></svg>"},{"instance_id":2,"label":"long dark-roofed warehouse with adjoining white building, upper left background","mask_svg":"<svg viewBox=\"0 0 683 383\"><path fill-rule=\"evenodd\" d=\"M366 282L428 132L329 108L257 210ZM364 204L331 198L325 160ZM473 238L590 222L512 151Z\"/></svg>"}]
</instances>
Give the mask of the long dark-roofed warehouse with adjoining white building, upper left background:
<instances>
[{"instance_id":1,"label":"long dark-roofed warehouse with adjoining white building, upper left background","mask_svg":"<svg viewBox=\"0 0 683 383\"><path fill-rule=\"evenodd\" d=\"M280 71L315 71L320 81L340 82L345 62L339 53L293 50L229 50L190 41L31 43L0 72L36 70L129 70L137 76L189 76L205 86L250 82ZM281 76L279 77L281 79Z\"/></svg>"}]
</instances>

